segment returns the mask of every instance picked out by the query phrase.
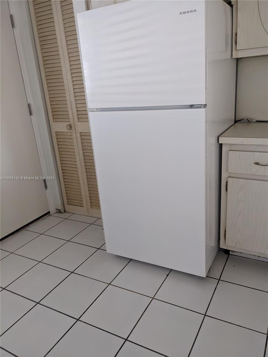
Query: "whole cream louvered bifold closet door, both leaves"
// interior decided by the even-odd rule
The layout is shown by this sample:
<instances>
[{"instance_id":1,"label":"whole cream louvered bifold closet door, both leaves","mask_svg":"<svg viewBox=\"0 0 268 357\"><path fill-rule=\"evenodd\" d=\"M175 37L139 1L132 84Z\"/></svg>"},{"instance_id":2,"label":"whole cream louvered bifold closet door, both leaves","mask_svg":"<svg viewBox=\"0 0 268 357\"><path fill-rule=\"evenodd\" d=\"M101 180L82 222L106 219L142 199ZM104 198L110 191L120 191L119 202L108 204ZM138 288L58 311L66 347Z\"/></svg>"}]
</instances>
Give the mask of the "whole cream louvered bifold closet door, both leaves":
<instances>
[{"instance_id":1,"label":"whole cream louvered bifold closet door, both leaves","mask_svg":"<svg viewBox=\"0 0 268 357\"><path fill-rule=\"evenodd\" d=\"M34 0L29 6L65 210L100 217L72 1Z\"/></svg>"}]
</instances>

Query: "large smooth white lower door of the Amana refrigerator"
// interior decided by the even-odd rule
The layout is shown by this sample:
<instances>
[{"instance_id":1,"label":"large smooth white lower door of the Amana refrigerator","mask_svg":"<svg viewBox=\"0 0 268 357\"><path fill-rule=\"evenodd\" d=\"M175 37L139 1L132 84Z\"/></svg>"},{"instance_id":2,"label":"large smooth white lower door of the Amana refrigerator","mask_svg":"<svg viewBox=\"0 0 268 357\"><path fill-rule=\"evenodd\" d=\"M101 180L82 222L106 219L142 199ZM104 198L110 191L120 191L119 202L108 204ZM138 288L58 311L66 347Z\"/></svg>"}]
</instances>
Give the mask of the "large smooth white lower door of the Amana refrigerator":
<instances>
[{"instance_id":1,"label":"large smooth white lower door of the Amana refrigerator","mask_svg":"<svg viewBox=\"0 0 268 357\"><path fill-rule=\"evenodd\" d=\"M91 112L107 252L205 276L205 110Z\"/></svg>"}]
</instances>

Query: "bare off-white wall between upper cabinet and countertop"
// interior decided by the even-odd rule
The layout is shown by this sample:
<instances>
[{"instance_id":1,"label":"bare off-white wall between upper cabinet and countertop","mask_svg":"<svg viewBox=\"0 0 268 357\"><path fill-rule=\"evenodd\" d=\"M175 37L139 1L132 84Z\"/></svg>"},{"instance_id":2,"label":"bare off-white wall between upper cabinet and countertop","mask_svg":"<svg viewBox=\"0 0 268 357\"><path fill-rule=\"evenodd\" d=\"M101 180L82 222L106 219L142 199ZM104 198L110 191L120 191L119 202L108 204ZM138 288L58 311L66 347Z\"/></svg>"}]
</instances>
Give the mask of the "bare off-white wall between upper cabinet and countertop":
<instances>
[{"instance_id":1,"label":"bare off-white wall between upper cabinet and countertop","mask_svg":"<svg viewBox=\"0 0 268 357\"><path fill-rule=\"evenodd\" d=\"M268 120L268 56L238 60L237 120Z\"/></svg>"}]
</instances>

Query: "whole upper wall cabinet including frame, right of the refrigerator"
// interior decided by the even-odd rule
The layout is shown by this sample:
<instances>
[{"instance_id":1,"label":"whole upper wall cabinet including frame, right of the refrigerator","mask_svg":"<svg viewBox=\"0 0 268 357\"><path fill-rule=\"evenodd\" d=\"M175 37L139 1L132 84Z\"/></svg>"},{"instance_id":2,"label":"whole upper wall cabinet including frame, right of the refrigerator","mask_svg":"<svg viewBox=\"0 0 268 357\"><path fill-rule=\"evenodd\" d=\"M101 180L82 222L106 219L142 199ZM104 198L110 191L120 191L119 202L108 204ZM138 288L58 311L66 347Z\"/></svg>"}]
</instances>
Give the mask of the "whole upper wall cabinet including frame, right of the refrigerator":
<instances>
[{"instance_id":1,"label":"whole upper wall cabinet including frame, right of the refrigerator","mask_svg":"<svg viewBox=\"0 0 268 357\"><path fill-rule=\"evenodd\" d=\"M268 55L268 0L234 0L233 57Z\"/></svg>"}]
</instances>

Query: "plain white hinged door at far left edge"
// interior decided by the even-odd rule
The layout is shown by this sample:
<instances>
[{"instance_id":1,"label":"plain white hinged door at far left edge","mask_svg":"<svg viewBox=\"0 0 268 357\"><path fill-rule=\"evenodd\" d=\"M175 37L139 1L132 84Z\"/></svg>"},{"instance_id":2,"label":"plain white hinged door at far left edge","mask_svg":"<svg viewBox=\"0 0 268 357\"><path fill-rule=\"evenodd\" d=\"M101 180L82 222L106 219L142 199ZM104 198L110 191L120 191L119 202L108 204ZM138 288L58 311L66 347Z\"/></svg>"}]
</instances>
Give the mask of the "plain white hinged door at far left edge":
<instances>
[{"instance_id":1,"label":"plain white hinged door at far left edge","mask_svg":"<svg viewBox=\"0 0 268 357\"><path fill-rule=\"evenodd\" d=\"M41 177L7 1L1 1L1 48L1 177ZM43 180L1 180L1 238L48 211Z\"/></svg>"}]
</instances>

